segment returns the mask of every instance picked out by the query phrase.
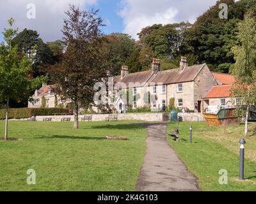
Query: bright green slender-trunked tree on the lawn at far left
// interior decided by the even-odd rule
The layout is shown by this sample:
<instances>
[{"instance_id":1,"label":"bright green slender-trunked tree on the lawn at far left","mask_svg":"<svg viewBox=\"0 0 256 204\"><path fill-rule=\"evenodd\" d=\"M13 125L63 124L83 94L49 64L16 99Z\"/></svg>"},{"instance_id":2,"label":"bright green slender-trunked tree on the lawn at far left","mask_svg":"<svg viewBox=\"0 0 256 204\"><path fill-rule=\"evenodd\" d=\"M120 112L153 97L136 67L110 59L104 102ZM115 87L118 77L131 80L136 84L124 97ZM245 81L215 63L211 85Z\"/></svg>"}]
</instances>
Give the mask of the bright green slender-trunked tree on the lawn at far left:
<instances>
[{"instance_id":1,"label":"bright green slender-trunked tree on the lawn at far left","mask_svg":"<svg viewBox=\"0 0 256 204\"><path fill-rule=\"evenodd\" d=\"M8 20L9 29L4 29L5 43L0 45L0 101L6 101L6 122L4 140L8 140L8 113L9 101L28 99L32 90L44 82L45 78L31 78L32 61L24 52L20 55L17 45L12 40L17 29L12 29L13 18ZM31 52L32 54L33 52Z\"/></svg>"}]
</instances>

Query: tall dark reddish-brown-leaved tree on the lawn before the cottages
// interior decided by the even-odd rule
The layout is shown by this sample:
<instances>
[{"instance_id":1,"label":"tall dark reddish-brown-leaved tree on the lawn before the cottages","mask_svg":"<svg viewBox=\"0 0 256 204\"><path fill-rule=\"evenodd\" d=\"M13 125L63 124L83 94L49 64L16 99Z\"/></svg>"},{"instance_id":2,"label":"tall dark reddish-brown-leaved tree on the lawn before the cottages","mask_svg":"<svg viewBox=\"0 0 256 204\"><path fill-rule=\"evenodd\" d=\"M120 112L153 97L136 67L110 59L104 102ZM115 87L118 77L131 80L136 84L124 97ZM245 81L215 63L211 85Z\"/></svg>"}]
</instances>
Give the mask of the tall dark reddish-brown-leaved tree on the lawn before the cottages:
<instances>
[{"instance_id":1,"label":"tall dark reddish-brown-leaved tree on the lawn before the cottages","mask_svg":"<svg viewBox=\"0 0 256 204\"><path fill-rule=\"evenodd\" d=\"M78 128L79 106L93 103L95 91L93 85L102 82L108 67L102 54L105 43L100 27L102 19L98 11L83 11L70 5L66 12L62 30L67 51L62 61L50 69L50 75L56 87L54 92L63 100L72 100L74 104L74 128Z\"/></svg>"}]
</instances>

